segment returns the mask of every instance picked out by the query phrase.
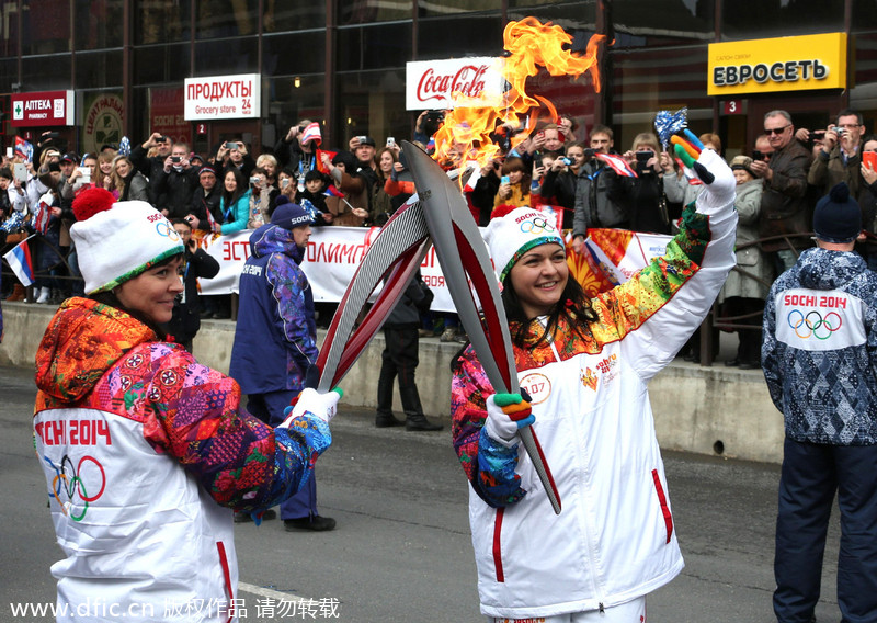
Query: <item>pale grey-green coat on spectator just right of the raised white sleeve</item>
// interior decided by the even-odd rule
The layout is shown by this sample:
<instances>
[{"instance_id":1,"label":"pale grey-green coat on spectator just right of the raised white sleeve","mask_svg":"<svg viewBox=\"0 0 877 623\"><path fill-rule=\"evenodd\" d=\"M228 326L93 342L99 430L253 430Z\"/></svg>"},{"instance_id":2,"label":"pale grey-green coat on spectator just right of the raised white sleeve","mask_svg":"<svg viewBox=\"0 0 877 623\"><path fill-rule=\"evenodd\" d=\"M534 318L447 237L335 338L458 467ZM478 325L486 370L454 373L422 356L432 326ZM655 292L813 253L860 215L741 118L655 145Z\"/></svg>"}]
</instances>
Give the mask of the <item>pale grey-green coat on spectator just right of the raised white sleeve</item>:
<instances>
[{"instance_id":1,"label":"pale grey-green coat on spectator just right of the raised white sleeve","mask_svg":"<svg viewBox=\"0 0 877 623\"><path fill-rule=\"evenodd\" d=\"M732 270L728 274L728 281L721 288L719 301L725 301L730 296L742 296L744 298L764 299L767 296L767 288L771 287L773 270L770 262L764 259L764 253L758 245L749 245L759 239L759 212L761 211L761 180L752 180L737 186L737 265L748 274L764 280L761 283L743 275L739 271ZM744 248L740 249L739 247Z\"/></svg>"}]
</instances>

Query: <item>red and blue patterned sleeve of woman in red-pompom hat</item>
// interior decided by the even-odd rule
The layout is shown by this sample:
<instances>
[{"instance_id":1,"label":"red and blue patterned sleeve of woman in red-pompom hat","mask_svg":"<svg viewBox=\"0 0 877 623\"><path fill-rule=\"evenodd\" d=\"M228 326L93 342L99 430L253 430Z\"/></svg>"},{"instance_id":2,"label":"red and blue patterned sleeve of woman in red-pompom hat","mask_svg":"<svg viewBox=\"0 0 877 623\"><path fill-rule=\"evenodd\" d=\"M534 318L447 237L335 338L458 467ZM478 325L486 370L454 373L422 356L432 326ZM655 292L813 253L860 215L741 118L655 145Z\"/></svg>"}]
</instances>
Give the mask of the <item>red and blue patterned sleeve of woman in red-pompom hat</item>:
<instances>
[{"instance_id":1,"label":"red and blue patterned sleeve of woman in red-pompom hat","mask_svg":"<svg viewBox=\"0 0 877 623\"><path fill-rule=\"evenodd\" d=\"M331 443L319 418L296 418L275 430L240 409L235 380L200 365L182 349L152 343L139 399L144 435L194 475L220 505L261 510L307 483ZM128 394L126 400L138 400Z\"/></svg>"}]
</instances>

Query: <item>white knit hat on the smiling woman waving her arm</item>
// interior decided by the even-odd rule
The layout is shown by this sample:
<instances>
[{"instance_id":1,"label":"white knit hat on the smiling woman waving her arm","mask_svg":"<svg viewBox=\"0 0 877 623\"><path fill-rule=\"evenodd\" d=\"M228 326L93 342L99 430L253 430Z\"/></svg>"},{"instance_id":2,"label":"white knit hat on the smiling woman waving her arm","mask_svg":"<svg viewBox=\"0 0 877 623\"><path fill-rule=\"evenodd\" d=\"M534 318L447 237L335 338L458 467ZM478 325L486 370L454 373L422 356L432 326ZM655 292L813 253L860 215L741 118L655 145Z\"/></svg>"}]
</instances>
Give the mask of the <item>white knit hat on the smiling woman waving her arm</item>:
<instances>
[{"instance_id":1,"label":"white knit hat on the smiling woman waving her arm","mask_svg":"<svg viewBox=\"0 0 877 623\"><path fill-rule=\"evenodd\" d=\"M492 218L487 226L485 240L500 281L532 248L547 243L563 247L563 238L551 219L532 207L516 207L504 216Z\"/></svg>"}]
</instances>

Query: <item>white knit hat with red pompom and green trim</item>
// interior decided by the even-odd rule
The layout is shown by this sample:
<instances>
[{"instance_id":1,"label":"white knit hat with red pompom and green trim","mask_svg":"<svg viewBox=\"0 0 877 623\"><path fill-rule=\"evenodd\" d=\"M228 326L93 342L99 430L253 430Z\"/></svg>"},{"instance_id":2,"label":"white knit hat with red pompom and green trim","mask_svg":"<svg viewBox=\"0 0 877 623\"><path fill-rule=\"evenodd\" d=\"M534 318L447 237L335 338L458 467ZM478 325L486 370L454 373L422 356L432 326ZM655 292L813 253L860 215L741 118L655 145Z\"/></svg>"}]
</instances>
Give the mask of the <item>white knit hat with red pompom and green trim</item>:
<instances>
[{"instance_id":1,"label":"white knit hat with red pompom and green trim","mask_svg":"<svg viewBox=\"0 0 877 623\"><path fill-rule=\"evenodd\" d=\"M113 290L184 251L170 220L145 201L116 202L105 189L89 189L77 195L73 214L86 294Z\"/></svg>"}]
</instances>

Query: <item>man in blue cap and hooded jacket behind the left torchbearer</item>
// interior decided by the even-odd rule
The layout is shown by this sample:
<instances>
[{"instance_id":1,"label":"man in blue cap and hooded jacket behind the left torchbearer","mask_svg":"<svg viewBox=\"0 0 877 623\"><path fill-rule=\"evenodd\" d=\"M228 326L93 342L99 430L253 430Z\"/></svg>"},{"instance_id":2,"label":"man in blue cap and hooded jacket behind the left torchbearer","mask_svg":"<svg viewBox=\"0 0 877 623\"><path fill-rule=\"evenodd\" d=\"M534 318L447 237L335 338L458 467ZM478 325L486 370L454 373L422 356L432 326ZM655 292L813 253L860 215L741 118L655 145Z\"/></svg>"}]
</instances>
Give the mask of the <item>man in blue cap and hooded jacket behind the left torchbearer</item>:
<instances>
[{"instance_id":1,"label":"man in blue cap and hooded jacket behind the left torchbearer","mask_svg":"<svg viewBox=\"0 0 877 623\"><path fill-rule=\"evenodd\" d=\"M308 209L277 197L271 223L250 236L251 254L240 275L229 375L248 395L248 410L272 426L284 420L284 410L305 388L308 366L317 361L314 297L299 268L312 224ZM315 478L281 505L281 519L288 531L335 526L334 519L317 512Z\"/></svg>"}]
</instances>

